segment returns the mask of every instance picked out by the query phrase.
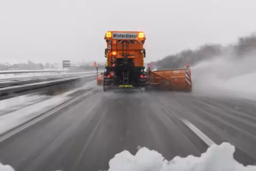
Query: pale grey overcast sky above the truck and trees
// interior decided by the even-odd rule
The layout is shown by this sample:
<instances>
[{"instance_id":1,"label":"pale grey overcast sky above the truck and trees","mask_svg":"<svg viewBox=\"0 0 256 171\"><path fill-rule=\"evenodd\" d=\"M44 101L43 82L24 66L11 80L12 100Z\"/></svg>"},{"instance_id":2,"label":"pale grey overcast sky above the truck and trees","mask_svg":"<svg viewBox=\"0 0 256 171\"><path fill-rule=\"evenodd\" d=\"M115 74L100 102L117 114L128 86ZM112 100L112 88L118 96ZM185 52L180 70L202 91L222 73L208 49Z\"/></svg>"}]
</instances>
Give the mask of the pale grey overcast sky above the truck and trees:
<instances>
[{"instance_id":1,"label":"pale grey overcast sky above the truck and trees","mask_svg":"<svg viewBox=\"0 0 256 171\"><path fill-rule=\"evenodd\" d=\"M255 0L0 0L0 62L105 61L108 30L141 30L146 61L256 31Z\"/></svg>"}]
</instances>

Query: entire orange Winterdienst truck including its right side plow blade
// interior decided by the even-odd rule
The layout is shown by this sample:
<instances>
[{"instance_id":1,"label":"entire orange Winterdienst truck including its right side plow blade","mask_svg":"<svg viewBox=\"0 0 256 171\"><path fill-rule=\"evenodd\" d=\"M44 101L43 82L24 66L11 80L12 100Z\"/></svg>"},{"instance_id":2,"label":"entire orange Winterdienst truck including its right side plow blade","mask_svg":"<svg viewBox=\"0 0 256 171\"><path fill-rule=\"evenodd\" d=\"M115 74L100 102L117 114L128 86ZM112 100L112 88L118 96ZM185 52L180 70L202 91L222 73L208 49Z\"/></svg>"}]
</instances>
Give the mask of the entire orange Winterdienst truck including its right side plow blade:
<instances>
[{"instance_id":1,"label":"entire orange Winterdienst truck including its right side plow blade","mask_svg":"<svg viewBox=\"0 0 256 171\"><path fill-rule=\"evenodd\" d=\"M145 71L144 32L107 31L105 40L104 91L192 90L189 66L186 69L151 71L148 68Z\"/></svg>"}]
</instances>

